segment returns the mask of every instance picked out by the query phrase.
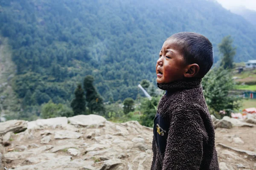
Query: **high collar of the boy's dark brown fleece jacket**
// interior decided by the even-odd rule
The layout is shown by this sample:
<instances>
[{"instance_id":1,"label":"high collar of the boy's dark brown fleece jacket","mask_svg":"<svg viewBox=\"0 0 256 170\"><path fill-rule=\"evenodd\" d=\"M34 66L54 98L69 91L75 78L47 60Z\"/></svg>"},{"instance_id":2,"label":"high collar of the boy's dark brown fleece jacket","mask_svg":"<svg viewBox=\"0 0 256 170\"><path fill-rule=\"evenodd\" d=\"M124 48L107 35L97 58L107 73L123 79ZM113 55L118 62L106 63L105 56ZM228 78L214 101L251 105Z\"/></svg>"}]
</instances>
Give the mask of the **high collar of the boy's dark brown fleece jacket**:
<instances>
[{"instance_id":1,"label":"high collar of the boy's dark brown fleece jacket","mask_svg":"<svg viewBox=\"0 0 256 170\"><path fill-rule=\"evenodd\" d=\"M180 91L201 86L202 79L193 78L170 83L157 83L157 87L166 91Z\"/></svg>"}]
</instances>

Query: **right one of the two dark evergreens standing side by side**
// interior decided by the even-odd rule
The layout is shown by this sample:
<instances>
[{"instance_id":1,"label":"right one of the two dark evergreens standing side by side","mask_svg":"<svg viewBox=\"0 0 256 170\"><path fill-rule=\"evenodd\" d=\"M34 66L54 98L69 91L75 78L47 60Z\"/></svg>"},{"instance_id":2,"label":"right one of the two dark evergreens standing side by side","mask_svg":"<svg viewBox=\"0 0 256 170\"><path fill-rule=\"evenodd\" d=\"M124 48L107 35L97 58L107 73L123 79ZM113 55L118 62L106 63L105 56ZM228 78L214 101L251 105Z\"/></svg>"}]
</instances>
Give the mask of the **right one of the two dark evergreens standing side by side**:
<instances>
[{"instance_id":1,"label":"right one of the two dark evergreens standing side by side","mask_svg":"<svg viewBox=\"0 0 256 170\"><path fill-rule=\"evenodd\" d=\"M103 115L105 114L103 99L96 91L93 81L94 78L91 75L84 78L84 91L86 92L87 107L89 108L90 113L97 112Z\"/></svg>"}]
</instances>

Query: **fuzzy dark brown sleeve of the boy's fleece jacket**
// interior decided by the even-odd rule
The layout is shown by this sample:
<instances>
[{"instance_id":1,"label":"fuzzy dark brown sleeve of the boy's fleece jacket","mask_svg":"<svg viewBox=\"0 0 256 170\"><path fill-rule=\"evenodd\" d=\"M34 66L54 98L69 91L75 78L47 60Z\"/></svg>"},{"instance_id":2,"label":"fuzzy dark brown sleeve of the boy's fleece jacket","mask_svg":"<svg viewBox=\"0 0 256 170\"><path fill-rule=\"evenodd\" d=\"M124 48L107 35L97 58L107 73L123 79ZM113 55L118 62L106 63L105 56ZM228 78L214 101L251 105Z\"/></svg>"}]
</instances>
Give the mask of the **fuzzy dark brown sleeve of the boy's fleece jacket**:
<instances>
[{"instance_id":1,"label":"fuzzy dark brown sleeve of the boy's fleece jacket","mask_svg":"<svg viewBox=\"0 0 256 170\"><path fill-rule=\"evenodd\" d=\"M205 128L198 112L173 112L163 170L199 170L203 159Z\"/></svg>"}]
</instances>

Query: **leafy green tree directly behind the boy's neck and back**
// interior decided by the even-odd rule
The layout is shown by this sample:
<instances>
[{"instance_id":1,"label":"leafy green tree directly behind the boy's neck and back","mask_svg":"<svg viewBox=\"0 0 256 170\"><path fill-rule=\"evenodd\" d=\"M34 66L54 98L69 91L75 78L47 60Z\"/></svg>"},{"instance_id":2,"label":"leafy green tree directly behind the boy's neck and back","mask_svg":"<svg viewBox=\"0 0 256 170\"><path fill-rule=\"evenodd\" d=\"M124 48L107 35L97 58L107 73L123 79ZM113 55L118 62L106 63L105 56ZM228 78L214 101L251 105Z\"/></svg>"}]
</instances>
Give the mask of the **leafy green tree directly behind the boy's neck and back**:
<instances>
[{"instance_id":1,"label":"leafy green tree directly behind the boy's neck and back","mask_svg":"<svg viewBox=\"0 0 256 170\"><path fill-rule=\"evenodd\" d=\"M204 77L202 86L207 105L215 112L233 111L239 108L240 98L230 93L235 89L235 82L230 70L223 67L213 68Z\"/></svg>"}]
</instances>

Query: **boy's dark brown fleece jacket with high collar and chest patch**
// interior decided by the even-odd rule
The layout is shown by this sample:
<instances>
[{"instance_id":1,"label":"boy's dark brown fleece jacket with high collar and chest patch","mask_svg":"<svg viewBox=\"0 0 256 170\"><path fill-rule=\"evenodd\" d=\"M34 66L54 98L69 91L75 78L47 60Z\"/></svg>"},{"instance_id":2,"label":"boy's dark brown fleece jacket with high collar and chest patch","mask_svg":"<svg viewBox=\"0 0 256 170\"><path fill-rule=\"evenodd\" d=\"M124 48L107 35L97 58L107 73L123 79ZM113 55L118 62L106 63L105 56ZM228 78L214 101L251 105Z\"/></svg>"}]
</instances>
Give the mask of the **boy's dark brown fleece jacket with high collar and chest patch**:
<instances>
[{"instance_id":1,"label":"boy's dark brown fleece jacket with high collar and chest patch","mask_svg":"<svg viewBox=\"0 0 256 170\"><path fill-rule=\"evenodd\" d=\"M154 119L151 170L219 170L201 79L157 86L166 94Z\"/></svg>"}]
</instances>

